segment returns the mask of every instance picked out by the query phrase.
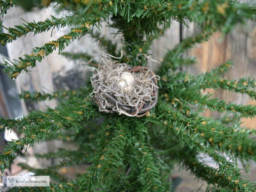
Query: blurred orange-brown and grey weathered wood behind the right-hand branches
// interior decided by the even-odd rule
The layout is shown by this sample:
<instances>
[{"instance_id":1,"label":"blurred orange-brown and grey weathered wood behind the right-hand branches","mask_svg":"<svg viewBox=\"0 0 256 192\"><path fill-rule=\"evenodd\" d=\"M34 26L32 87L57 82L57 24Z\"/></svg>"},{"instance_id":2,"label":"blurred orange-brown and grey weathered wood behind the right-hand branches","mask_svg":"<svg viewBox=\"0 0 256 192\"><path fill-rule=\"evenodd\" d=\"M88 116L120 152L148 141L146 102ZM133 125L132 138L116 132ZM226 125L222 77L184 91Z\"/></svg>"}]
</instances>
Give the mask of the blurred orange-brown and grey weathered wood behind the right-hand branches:
<instances>
[{"instance_id":1,"label":"blurred orange-brown and grey weathered wood behind the right-hand branches","mask_svg":"<svg viewBox=\"0 0 256 192\"><path fill-rule=\"evenodd\" d=\"M198 29L196 29L193 23L189 23L189 26L189 29L184 29L183 38L198 33ZM194 55L197 59L197 64L186 67L185 70L188 70L189 73L199 74L231 60L233 61L234 69L225 73L224 78L230 80L239 79L244 76L256 78L255 45L255 22L248 21L246 26L237 26L233 32L225 36L221 35L220 32L216 32L209 41L196 44L194 48L186 53L186 56ZM236 102L239 104L248 104L251 102L248 96L230 91L207 89L205 92L213 93L215 97L225 99L227 102ZM204 115L220 116L219 113L210 111L207 111ZM247 125L249 124L247 123ZM255 127L253 121L250 123L250 127Z\"/></svg>"}]
</instances>

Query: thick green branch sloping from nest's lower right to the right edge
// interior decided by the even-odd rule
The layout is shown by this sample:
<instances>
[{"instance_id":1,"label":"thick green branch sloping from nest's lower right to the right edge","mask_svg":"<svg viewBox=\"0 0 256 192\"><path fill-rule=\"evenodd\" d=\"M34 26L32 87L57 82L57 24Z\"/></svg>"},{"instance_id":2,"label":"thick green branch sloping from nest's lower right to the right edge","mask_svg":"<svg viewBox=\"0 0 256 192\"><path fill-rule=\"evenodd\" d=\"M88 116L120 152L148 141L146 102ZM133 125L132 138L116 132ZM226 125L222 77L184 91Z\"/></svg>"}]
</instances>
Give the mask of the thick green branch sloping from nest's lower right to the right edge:
<instances>
[{"instance_id":1,"label":"thick green branch sloping from nest's lower right to the right edge","mask_svg":"<svg viewBox=\"0 0 256 192\"><path fill-rule=\"evenodd\" d=\"M219 121L198 115L189 118L183 116L179 111L163 106L163 104L158 109L158 114L164 114L164 118L163 116L160 118L167 121L165 122L167 126L178 126L178 129L174 130L176 134L183 136L183 134L189 133L188 145L192 144L191 140L195 140L198 144L204 144L206 148L225 152L230 157L256 161L256 151L254 151L256 143L249 137L250 129L233 129L222 125Z\"/></svg>"}]
</instances>

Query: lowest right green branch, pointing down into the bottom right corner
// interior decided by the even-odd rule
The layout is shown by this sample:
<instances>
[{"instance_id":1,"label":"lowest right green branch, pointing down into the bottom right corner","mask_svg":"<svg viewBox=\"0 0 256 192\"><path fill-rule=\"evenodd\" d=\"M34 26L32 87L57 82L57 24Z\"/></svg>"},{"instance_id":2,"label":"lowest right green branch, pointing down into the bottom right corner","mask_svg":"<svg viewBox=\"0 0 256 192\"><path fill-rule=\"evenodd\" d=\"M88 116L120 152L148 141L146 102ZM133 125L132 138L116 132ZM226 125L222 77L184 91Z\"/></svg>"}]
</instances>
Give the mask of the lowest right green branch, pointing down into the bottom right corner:
<instances>
[{"instance_id":1,"label":"lowest right green branch, pointing down into the bottom right corner","mask_svg":"<svg viewBox=\"0 0 256 192\"><path fill-rule=\"evenodd\" d=\"M198 154L189 145L185 145L177 151L172 151L171 156L179 162L183 162L183 166L189 169L193 175L207 181L208 184L212 184L211 190L217 188L227 189L228 191L250 191L253 189L249 180L244 180L241 177L241 173L234 163L215 152L207 152L215 162L218 162L218 168L205 165L205 162L199 160Z\"/></svg>"}]
</instances>

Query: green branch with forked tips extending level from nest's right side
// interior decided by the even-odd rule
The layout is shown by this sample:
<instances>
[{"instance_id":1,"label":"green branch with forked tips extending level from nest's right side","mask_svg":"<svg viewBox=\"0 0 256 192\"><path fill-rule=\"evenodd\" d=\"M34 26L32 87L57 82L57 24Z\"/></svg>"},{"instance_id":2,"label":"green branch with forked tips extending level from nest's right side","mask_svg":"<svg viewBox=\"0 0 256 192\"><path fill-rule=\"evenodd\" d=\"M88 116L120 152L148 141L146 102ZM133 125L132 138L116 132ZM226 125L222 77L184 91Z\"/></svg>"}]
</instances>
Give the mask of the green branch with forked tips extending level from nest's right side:
<instances>
[{"instance_id":1,"label":"green branch with forked tips extending level from nest's right side","mask_svg":"<svg viewBox=\"0 0 256 192\"><path fill-rule=\"evenodd\" d=\"M256 99L256 92L253 90L255 87L255 79L241 78L239 80L235 79L230 81L220 76L231 67L232 65L230 61L228 61L220 67L211 70L209 73L203 73L197 76L186 73L176 73L172 76L165 76L161 81L161 85L166 88L161 90L161 92L166 93L168 100L170 99L170 101L172 101L171 99L178 98L179 96L183 96L184 99L187 99L191 92L196 93L201 89L221 88L236 93L246 93L251 99ZM250 111L247 112L250 113Z\"/></svg>"}]
</instances>

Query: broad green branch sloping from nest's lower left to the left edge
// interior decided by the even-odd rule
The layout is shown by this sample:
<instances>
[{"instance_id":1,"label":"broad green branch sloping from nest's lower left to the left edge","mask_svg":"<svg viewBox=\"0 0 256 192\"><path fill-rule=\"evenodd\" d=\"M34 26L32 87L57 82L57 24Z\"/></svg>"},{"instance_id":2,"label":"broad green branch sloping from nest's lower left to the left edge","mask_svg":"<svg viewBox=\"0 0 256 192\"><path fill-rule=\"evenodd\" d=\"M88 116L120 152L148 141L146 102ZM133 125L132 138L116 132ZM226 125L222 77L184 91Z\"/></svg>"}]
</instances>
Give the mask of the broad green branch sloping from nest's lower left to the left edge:
<instances>
[{"instance_id":1,"label":"broad green branch sloping from nest's lower left to the left edge","mask_svg":"<svg viewBox=\"0 0 256 192\"><path fill-rule=\"evenodd\" d=\"M8 142L3 154L0 154L0 170L3 172L17 155L23 155L22 150L26 145L34 145L34 143L56 134L61 129L72 128L78 132L81 129L79 122L96 114L93 106L94 104L88 99L79 101L76 98L61 104L58 108L49 108L46 112L32 112L22 119L1 118L0 124L3 128L15 128L18 132L23 133L24 137Z\"/></svg>"}]
</instances>

